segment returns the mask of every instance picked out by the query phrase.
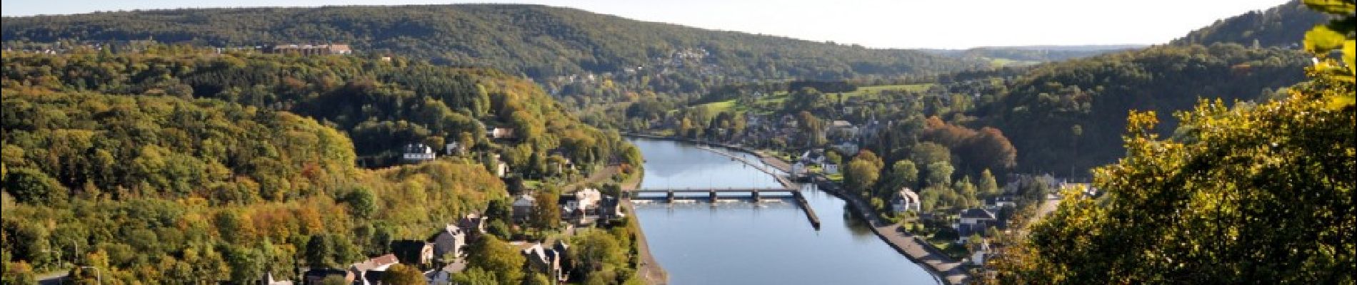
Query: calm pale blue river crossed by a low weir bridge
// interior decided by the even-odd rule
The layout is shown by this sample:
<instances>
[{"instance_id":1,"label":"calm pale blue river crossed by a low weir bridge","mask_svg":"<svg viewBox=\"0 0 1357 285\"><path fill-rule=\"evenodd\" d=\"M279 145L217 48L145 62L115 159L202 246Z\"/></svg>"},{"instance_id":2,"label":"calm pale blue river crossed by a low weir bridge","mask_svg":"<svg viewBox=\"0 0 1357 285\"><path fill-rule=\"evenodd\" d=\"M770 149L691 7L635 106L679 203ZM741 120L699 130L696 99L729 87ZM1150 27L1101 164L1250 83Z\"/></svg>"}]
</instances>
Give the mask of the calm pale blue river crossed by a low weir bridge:
<instances>
[{"instance_id":1,"label":"calm pale blue river crossed by a low weir bridge","mask_svg":"<svg viewBox=\"0 0 1357 285\"><path fill-rule=\"evenodd\" d=\"M646 158L641 188L780 186L754 167L693 145L631 143ZM938 284L847 215L843 200L810 185L803 195L821 219L818 231L791 200L638 203L635 215L672 284Z\"/></svg>"}]
</instances>

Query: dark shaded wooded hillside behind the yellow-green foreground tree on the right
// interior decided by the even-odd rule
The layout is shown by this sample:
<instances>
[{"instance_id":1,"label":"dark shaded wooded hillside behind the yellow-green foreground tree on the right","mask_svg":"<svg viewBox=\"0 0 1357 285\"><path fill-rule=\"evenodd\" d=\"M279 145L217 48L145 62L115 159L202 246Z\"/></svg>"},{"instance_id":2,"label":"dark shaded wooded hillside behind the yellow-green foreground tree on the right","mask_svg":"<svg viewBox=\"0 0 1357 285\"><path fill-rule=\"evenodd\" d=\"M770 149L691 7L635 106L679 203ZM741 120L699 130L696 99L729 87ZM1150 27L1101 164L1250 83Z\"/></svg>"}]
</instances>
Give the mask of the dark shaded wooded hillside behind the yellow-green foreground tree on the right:
<instances>
[{"instance_id":1,"label":"dark shaded wooded hillside behind the yellow-green foreground tree on the right","mask_svg":"<svg viewBox=\"0 0 1357 285\"><path fill-rule=\"evenodd\" d=\"M1158 131L1170 134L1172 112L1201 99L1266 100L1300 82L1307 62L1297 50L1221 43L1044 63L996 88L1003 96L980 116L1008 135L1020 170L1083 173L1125 154L1121 134L1130 109L1158 111L1166 122Z\"/></svg>"}]
</instances>

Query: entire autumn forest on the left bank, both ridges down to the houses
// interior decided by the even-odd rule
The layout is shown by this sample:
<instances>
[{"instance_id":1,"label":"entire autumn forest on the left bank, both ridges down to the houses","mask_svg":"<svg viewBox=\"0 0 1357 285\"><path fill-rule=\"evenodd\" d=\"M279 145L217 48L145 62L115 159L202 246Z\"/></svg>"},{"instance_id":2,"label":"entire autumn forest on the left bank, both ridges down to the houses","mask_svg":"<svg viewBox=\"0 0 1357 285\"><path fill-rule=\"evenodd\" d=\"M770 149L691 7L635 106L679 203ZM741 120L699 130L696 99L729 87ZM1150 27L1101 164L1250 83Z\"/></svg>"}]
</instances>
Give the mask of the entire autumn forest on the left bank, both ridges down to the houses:
<instances>
[{"instance_id":1,"label":"entire autumn forest on the left bank, both ridges down to the houses","mask_svg":"<svg viewBox=\"0 0 1357 285\"><path fill-rule=\"evenodd\" d=\"M540 235L554 227L513 226L503 209L524 180L559 195L641 161L616 132L491 69L191 46L5 51L3 65L7 282L79 259L114 284L246 284L388 253L467 213L486 213L499 238ZM514 136L490 139L487 126ZM464 147L391 166L407 143L445 142ZM510 178L490 172L497 159ZM582 236L613 247L571 254L626 254L630 228ZM472 251L509 247L486 243ZM524 278L478 261L480 276L463 278ZM627 261L578 274L627 281Z\"/></svg>"}]
</instances>

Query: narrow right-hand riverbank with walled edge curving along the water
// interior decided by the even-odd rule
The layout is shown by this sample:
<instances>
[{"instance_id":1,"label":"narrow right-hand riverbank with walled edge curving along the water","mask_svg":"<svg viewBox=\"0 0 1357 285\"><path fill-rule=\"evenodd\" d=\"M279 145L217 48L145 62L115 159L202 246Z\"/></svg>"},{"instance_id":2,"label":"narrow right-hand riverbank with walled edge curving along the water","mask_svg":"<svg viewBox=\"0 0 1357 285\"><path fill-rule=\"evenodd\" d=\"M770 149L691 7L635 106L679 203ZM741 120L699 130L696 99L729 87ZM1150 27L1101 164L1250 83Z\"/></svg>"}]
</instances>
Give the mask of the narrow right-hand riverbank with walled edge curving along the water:
<instances>
[{"instance_id":1,"label":"narrow right-hand riverbank with walled edge curving along the water","mask_svg":"<svg viewBox=\"0 0 1357 285\"><path fill-rule=\"evenodd\" d=\"M784 173L791 172L790 162L744 146L697 142L692 139L676 139L676 138L665 138L665 136L645 135L645 134L626 134L626 135L635 138L678 140L688 143L719 146L725 149L753 154L759 157L765 165L772 166L773 169L782 170ZM878 238L881 238L882 242L886 242L886 244L889 244L901 255L909 258L912 262L923 265L921 267L924 267L928 273L931 273L935 278L938 278L939 282L949 285L959 285L970 282L970 274L966 271L966 266L963 266L963 263L943 254L931 243L927 243L924 240L915 238L913 235L902 232L897 224L886 223L881 219L877 219L874 215L871 215L870 211L871 208L867 207L867 203L852 195L841 193L837 184L828 182L826 180L824 180L822 176L817 176L817 181L821 181L817 184L817 186L820 186L821 190L825 190L825 193L830 193L844 200L849 205L848 208L852 212L856 212L858 216L862 217L862 220L870 224L871 231Z\"/></svg>"}]
</instances>

